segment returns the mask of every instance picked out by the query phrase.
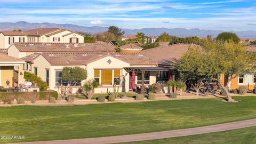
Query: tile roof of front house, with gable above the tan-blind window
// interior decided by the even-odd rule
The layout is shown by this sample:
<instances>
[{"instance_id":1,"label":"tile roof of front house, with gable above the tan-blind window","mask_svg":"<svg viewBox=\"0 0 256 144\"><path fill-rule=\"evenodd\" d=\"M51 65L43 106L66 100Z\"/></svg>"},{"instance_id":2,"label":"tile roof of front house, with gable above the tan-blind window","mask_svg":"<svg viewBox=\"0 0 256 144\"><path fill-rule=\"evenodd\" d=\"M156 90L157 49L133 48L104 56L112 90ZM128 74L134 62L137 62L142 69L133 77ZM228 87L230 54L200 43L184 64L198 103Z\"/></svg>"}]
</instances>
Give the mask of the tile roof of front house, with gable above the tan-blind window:
<instances>
[{"instance_id":1,"label":"tile roof of front house, with gable above the tan-blind window","mask_svg":"<svg viewBox=\"0 0 256 144\"><path fill-rule=\"evenodd\" d=\"M51 63L52 66L76 66L87 65L93 61L113 57L130 65L157 65L157 62L148 58L145 54L137 53L77 53L77 52L58 52L43 53L42 56Z\"/></svg>"}]
</instances>

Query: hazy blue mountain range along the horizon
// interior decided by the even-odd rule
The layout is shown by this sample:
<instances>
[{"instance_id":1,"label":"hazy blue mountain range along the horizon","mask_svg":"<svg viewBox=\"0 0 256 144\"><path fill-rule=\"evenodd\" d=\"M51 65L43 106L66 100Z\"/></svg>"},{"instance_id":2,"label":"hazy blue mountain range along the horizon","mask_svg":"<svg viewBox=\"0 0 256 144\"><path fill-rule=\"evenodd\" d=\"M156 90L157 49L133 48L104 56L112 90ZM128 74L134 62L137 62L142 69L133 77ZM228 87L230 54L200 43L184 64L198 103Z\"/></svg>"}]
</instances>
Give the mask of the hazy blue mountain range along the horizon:
<instances>
[{"instance_id":1,"label":"hazy blue mountain range along the horizon","mask_svg":"<svg viewBox=\"0 0 256 144\"><path fill-rule=\"evenodd\" d=\"M83 31L86 33L100 33L103 31L107 31L108 27L85 27L79 25L72 24L58 24L58 23L29 23L26 21L19 22L0 22L0 30L13 30L13 29L22 29L29 30L34 28L67 28L74 31ZM142 28L142 29L123 29L125 31L125 35L135 35L138 32L142 32L147 36L159 36L162 33L169 33L174 36L198 36L198 37L206 37L207 35L217 36L219 33L223 32L221 30L204 30L204 29L185 29L185 28ZM248 30L248 31L230 31L232 33L236 33L241 38L256 38L256 31Z\"/></svg>"}]
</instances>

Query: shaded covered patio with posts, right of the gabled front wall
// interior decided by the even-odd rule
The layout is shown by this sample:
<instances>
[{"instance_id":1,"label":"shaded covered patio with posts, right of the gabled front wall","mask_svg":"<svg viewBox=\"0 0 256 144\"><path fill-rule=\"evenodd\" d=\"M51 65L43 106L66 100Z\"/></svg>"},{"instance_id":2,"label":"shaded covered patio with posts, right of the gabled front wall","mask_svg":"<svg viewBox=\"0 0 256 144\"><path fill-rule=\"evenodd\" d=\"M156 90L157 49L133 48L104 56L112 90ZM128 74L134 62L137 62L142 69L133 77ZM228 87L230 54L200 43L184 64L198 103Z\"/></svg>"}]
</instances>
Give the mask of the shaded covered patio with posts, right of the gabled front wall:
<instances>
[{"instance_id":1,"label":"shaded covered patio with posts, right of the gabled front wall","mask_svg":"<svg viewBox=\"0 0 256 144\"><path fill-rule=\"evenodd\" d=\"M168 67L125 67L130 74L129 89L131 88L132 72L135 73L135 85L141 87L141 94L145 94L147 85L172 81L175 77L174 69ZM136 86L136 89L137 89Z\"/></svg>"}]
</instances>

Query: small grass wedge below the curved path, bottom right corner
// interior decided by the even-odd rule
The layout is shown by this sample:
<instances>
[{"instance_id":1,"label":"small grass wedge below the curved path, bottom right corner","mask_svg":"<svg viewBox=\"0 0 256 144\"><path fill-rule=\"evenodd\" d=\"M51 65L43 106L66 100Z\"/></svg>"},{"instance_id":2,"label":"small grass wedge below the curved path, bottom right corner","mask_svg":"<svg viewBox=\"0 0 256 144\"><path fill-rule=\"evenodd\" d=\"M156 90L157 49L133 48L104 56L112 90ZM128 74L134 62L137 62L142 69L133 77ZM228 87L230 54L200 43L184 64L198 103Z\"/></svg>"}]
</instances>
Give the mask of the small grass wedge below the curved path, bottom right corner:
<instances>
[{"instance_id":1,"label":"small grass wedge below the curved path, bottom right corner","mask_svg":"<svg viewBox=\"0 0 256 144\"><path fill-rule=\"evenodd\" d=\"M149 140L149 141L137 141L127 142L122 144L207 144L207 143L218 143L218 144L252 144L256 143L256 126L248 127L245 129L231 130L225 132L214 132L198 135L190 135L187 137Z\"/></svg>"}]
</instances>

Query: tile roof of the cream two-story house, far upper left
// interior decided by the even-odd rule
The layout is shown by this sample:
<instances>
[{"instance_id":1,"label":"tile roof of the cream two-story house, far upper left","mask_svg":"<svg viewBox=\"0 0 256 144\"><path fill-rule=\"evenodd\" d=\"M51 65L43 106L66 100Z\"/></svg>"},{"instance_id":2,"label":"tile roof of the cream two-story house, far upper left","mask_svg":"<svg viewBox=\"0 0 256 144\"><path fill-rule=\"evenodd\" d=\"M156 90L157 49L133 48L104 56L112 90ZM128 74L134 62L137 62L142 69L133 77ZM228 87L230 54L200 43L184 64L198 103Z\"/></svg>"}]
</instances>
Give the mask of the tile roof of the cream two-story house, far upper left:
<instances>
[{"instance_id":1,"label":"tile roof of the cream two-story house, far upper left","mask_svg":"<svg viewBox=\"0 0 256 144\"><path fill-rule=\"evenodd\" d=\"M37 28L27 31L1 31L5 36L42 36L52 33L60 28Z\"/></svg>"}]
</instances>

